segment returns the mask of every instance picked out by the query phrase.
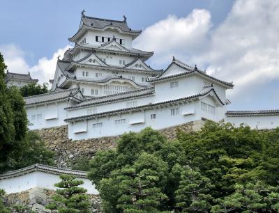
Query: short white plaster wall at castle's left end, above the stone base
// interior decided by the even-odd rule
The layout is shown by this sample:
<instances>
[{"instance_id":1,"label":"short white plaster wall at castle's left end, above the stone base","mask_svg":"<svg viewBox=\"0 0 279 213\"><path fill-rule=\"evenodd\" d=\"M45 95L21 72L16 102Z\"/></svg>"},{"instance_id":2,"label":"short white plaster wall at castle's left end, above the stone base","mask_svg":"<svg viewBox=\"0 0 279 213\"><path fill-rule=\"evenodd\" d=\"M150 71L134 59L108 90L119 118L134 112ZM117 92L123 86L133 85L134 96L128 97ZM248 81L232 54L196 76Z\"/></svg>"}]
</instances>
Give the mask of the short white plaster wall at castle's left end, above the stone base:
<instances>
[{"instance_id":1,"label":"short white plaster wall at castle's left end, above the stone base","mask_svg":"<svg viewBox=\"0 0 279 213\"><path fill-rule=\"evenodd\" d=\"M29 123L29 129L43 129L50 127L59 127L61 125L66 125L64 120L67 118L67 111L64 110L65 107L68 107L68 101L65 100L63 102L58 102L57 104L45 104L36 107L26 107L27 110L27 118ZM58 118L52 120L46 120L45 117L48 113L51 113L56 109L58 111ZM41 115L40 119L32 120L32 115Z\"/></svg>"}]
</instances>

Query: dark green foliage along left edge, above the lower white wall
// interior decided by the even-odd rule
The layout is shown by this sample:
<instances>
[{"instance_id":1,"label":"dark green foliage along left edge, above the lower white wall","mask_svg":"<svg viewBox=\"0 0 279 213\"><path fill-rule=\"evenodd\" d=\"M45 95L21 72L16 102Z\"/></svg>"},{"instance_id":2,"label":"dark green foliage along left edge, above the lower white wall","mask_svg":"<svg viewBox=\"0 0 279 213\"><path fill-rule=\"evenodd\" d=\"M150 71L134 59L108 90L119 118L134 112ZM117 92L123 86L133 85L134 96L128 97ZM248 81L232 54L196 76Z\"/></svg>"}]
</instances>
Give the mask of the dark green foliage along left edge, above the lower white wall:
<instances>
[{"instance_id":1,"label":"dark green foliage along left edge, above the lower white wall","mask_svg":"<svg viewBox=\"0 0 279 213\"><path fill-rule=\"evenodd\" d=\"M52 164L53 153L38 134L27 129L24 99L16 87L7 88L6 65L0 54L0 173L31 164Z\"/></svg>"}]
</instances>

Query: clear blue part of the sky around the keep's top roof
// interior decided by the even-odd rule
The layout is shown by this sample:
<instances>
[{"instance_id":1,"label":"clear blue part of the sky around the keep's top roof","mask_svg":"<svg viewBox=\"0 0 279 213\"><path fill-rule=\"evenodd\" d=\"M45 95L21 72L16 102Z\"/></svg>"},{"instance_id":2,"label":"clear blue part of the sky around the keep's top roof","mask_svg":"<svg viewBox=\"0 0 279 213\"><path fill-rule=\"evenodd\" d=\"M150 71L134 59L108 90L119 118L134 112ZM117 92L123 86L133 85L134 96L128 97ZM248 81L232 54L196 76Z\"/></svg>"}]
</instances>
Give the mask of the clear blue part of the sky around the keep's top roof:
<instances>
[{"instance_id":1,"label":"clear blue part of the sky around the keep's top roof","mask_svg":"<svg viewBox=\"0 0 279 213\"><path fill-rule=\"evenodd\" d=\"M206 8L212 13L216 25L222 22L232 6L232 1L223 0L144 0L144 1L1 1L0 43L13 43L27 52L29 65L39 58L52 54L70 44L80 23L80 13L108 19L123 19L133 29L144 29L167 15L186 16L194 8Z\"/></svg>"}]
</instances>

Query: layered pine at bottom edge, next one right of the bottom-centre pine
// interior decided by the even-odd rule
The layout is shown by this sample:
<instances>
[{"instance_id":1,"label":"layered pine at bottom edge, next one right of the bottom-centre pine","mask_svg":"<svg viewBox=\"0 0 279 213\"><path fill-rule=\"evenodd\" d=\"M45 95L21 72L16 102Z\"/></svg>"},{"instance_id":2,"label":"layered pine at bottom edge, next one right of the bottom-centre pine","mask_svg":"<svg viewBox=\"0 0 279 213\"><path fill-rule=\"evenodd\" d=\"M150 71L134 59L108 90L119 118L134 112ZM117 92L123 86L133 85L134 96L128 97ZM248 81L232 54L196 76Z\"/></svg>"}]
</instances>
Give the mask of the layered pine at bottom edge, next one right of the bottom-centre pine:
<instances>
[{"instance_id":1,"label":"layered pine at bottom edge, next one right of the bottom-centre pine","mask_svg":"<svg viewBox=\"0 0 279 213\"><path fill-rule=\"evenodd\" d=\"M211 208L211 188L209 178L205 178L190 166L184 166L179 189L175 191L176 207L182 212L207 212Z\"/></svg>"}]
</instances>

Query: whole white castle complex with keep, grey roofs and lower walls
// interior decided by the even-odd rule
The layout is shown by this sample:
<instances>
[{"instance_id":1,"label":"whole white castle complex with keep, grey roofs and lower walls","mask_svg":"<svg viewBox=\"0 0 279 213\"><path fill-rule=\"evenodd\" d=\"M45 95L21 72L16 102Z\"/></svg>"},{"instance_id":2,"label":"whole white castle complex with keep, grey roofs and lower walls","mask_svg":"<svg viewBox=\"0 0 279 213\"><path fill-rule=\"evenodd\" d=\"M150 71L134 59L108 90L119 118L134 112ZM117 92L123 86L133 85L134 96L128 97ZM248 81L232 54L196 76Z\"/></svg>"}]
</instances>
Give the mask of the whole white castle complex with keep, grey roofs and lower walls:
<instances>
[{"instance_id":1,"label":"whole white castle complex with keep, grey roofs and lower walls","mask_svg":"<svg viewBox=\"0 0 279 213\"><path fill-rule=\"evenodd\" d=\"M153 52L133 48L141 33L127 19L84 15L75 46L57 59L50 93L25 97L30 129L68 125L70 139L163 129L196 120L225 120L252 128L279 125L279 111L227 111L232 82L169 58L165 70L146 64Z\"/></svg>"}]
</instances>

